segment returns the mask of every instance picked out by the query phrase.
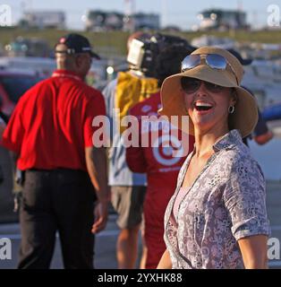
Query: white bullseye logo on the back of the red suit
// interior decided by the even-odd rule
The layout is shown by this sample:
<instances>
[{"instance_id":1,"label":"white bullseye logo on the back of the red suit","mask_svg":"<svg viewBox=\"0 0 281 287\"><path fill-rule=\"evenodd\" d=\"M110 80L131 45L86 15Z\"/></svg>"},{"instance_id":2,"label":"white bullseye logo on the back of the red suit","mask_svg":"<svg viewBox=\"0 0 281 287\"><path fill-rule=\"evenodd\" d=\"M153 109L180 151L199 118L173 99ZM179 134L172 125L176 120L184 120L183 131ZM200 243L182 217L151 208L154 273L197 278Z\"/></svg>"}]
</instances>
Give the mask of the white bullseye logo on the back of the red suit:
<instances>
[{"instance_id":1,"label":"white bullseye logo on the back of the red suit","mask_svg":"<svg viewBox=\"0 0 281 287\"><path fill-rule=\"evenodd\" d=\"M172 166L183 157L183 145L173 135L159 136L152 146L153 155L160 164Z\"/></svg>"}]
</instances>

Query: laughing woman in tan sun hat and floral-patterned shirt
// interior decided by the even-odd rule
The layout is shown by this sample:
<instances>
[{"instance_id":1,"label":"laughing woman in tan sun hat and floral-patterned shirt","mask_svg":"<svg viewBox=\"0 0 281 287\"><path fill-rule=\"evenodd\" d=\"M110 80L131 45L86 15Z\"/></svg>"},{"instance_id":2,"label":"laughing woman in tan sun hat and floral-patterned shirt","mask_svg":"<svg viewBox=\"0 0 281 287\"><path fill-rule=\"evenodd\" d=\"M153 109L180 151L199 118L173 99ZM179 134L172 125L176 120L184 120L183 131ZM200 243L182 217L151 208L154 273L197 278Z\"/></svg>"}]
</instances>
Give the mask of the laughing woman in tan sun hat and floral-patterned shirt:
<instances>
[{"instance_id":1,"label":"laughing woman in tan sun hat and floral-patterned shirt","mask_svg":"<svg viewBox=\"0 0 281 287\"><path fill-rule=\"evenodd\" d=\"M242 78L237 58L203 47L162 84L159 113L188 115L189 125L180 127L195 136L195 146L166 208L158 268L267 267L265 179L242 142L258 109Z\"/></svg>"}]
</instances>

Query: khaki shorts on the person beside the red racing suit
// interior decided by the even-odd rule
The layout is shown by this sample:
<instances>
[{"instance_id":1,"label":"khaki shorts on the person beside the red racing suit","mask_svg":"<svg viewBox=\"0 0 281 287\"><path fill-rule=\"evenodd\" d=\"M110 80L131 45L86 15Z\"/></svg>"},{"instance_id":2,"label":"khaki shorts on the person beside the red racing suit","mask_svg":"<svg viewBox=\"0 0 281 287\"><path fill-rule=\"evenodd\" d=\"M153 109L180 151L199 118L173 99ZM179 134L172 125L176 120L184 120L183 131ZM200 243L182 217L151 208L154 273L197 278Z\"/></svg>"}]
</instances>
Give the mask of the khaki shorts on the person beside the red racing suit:
<instances>
[{"instance_id":1,"label":"khaki shorts on the person beside the red racing suit","mask_svg":"<svg viewBox=\"0 0 281 287\"><path fill-rule=\"evenodd\" d=\"M119 228L132 228L141 223L146 189L141 186L111 187L111 202L118 213Z\"/></svg>"}]
</instances>

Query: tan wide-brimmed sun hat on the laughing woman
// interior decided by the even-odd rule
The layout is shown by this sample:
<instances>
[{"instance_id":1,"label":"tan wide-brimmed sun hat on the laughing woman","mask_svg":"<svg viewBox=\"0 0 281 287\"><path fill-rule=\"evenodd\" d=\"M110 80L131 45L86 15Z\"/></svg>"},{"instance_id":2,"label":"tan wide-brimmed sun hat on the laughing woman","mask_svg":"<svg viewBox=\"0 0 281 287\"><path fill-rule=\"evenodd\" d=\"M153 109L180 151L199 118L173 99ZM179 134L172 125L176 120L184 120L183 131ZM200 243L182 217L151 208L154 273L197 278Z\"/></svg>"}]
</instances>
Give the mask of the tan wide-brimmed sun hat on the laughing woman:
<instances>
[{"instance_id":1,"label":"tan wide-brimmed sun hat on the laughing woman","mask_svg":"<svg viewBox=\"0 0 281 287\"><path fill-rule=\"evenodd\" d=\"M258 105L251 93L240 86L243 78L243 65L236 57L222 48L201 47L192 52L191 55L196 54L220 55L226 58L228 65L226 69L221 70L211 68L204 61L183 73L167 77L161 87L162 109L159 109L158 113L169 119L171 116L188 116L183 100L181 78L191 77L223 87L234 88L237 102L234 105L234 113L229 114L229 125L232 129L238 129L242 137L250 135L258 122ZM192 121L189 122L189 134L194 135ZM179 120L179 128L186 131L186 126L181 126L181 120Z\"/></svg>"}]
</instances>

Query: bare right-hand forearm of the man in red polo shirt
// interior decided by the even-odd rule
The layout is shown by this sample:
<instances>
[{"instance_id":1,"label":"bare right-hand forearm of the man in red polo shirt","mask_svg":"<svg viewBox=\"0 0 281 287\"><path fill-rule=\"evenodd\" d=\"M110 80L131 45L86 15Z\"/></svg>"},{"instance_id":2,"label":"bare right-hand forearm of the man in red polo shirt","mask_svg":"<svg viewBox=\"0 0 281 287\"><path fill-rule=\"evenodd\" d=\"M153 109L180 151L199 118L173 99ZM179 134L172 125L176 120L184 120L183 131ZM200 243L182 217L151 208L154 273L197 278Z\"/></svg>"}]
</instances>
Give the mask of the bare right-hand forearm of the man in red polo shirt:
<instances>
[{"instance_id":1,"label":"bare right-hand forearm of the man in red polo shirt","mask_svg":"<svg viewBox=\"0 0 281 287\"><path fill-rule=\"evenodd\" d=\"M98 204L95 208L96 218L92 226L92 232L98 233L106 228L108 215L109 188L106 176L106 149L86 147L85 157L89 178L98 196Z\"/></svg>"}]
</instances>

